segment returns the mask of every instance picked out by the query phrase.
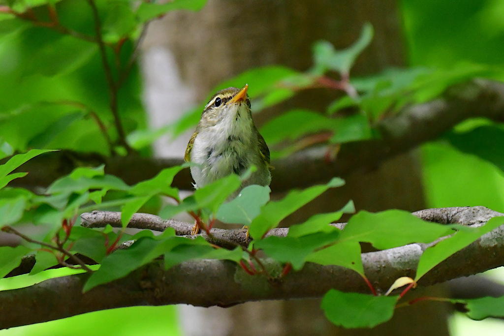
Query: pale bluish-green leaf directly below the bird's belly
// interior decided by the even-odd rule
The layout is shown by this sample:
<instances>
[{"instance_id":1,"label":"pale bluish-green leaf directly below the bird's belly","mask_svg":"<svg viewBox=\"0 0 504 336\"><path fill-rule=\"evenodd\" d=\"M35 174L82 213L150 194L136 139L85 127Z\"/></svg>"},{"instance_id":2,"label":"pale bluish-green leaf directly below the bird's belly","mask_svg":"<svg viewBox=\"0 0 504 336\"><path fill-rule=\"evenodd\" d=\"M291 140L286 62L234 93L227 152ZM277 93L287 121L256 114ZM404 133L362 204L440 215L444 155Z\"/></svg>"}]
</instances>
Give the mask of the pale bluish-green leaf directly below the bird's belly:
<instances>
[{"instance_id":1,"label":"pale bluish-green leaf directly below the bird's belly","mask_svg":"<svg viewBox=\"0 0 504 336\"><path fill-rule=\"evenodd\" d=\"M216 218L224 223L250 225L263 207L270 200L271 189L268 186L249 185L238 196L224 203L217 211Z\"/></svg>"}]
</instances>

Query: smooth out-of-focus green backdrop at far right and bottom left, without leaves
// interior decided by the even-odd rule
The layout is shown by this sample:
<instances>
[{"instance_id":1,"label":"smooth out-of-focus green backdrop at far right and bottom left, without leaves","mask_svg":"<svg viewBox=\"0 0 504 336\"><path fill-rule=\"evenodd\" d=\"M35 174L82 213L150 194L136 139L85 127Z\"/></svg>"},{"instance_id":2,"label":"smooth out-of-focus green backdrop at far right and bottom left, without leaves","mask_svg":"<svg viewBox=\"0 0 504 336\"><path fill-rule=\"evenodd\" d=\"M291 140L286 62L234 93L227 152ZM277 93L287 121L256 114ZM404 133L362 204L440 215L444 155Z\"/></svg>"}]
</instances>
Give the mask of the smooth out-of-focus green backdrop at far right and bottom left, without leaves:
<instances>
[{"instance_id":1,"label":"smooth out-of-focus green backdrop at far right and bottom left, without leaves","mask_svg":"<svg viewBox=\"0 0 504 336\"><path fill-rule=\"evenodd\" d=\"M504 0L403 0L401 9L409 65L448 69L465 62L503 65ZM16 91L19 92L19 88ZM39 93L43 94L43 90ZM504 212L504 176L501 170L475 156L463 154L443 141L425 144L421 153L429 207L486 206ZM27 281L25 284L21 284L19 279L16 284L10 279L2 279L0 290L42 281L46 272L34 279L22 278ZM492 276L498 278L502 273L492 272ZM488 329L483 329L485 325ZM451 328L454 335L473 334L475 328L485 334L498 334L504 330L504 324L492 319L471 321L454 315ZM181 334L176 307L167 306L94 312L2 330L0 336L67 335L70 330L73 335Z\"/></svg>"}]
</instances>

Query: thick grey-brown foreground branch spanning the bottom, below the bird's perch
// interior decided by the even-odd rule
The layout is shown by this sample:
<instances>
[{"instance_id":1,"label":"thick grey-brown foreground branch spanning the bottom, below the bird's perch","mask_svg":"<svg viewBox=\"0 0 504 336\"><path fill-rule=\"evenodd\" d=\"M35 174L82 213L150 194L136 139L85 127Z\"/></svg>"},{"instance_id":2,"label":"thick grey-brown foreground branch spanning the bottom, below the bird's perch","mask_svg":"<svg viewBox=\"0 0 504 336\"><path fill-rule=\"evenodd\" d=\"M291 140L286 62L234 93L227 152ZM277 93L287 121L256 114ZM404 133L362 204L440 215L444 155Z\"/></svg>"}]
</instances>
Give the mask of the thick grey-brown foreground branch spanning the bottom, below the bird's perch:
<instances>
[{"instance_id":1,"label":"thick grey-brown foreground branch spanning the bottom, below the bird's perch","mask_svg":"<svg viewBox=\"0 0 504 336\"><path fill-rule=\"evenodd\" d=\"M427 214L427 212L429 214ZM480 225L495 215L483 207L427 210L420 217ZM365 274L384 292L395 279L414 277L425 246L410 244L362 254ZM274 272L275 262L264 259ZM420 286L477 274L504 265L504 226L455 253L420 279ZM0 292L0 328L43 322L90 311L134 305L188 303L229 306L245 301L320 297L330 288L367 293L359 275L339 266L306 263L276 284L245 275L229 261L192 260L164 271L153 262L110 284L82 293L87 275L75 275ZM317 281L313 281L317 279ZM16 307L16 309L12 309Z\"/></svg>"}]
</instances>

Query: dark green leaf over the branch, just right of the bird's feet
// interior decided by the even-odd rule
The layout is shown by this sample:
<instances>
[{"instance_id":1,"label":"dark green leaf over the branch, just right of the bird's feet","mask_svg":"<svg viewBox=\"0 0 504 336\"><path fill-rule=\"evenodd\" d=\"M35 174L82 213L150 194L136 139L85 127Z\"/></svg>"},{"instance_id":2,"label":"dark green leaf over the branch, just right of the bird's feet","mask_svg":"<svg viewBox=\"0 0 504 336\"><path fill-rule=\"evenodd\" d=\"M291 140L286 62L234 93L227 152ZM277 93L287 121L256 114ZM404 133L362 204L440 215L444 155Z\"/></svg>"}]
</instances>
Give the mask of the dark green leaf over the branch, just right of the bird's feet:
<instances>
[{"instance_id":1,"label":"dark green leaf over the branch, just right of the bird's feet","mask_svg":"<svg viewBox=\"0 0 504 336\"><path fill-rule=\"evenodd\" d=\"M301 237L270 236L254 243L254 248L262 249L268 256L280 262L290 262L294 270L300 270L306 256L314 250L328 245L339 236L339 230L317 232Z\"/></svg>"}]
</instances>

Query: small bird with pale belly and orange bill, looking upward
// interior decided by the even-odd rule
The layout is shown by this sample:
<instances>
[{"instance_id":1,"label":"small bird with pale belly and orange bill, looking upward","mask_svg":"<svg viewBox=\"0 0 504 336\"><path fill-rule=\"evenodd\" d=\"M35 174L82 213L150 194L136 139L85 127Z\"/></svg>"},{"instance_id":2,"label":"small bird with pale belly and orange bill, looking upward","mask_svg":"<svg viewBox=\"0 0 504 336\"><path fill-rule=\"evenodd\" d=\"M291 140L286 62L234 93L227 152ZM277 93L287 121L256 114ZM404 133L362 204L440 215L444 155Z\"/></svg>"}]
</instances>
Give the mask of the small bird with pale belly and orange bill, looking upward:
<instances>
[{"instance_id":1,"label":"small bird with pale belly and orange bill, looking upward","mask_svg":"<svg viewBox=\"0 0 504 336\"><path fill-rule=\"evenodd\" d=\"M252 165L257 170L231 197L247 185L270 184L270 150L252 120L247 89L220 90L205 106L184 155L184 161L199 164L191 166L196 188Z\"/></svg>"}]
</instances>

